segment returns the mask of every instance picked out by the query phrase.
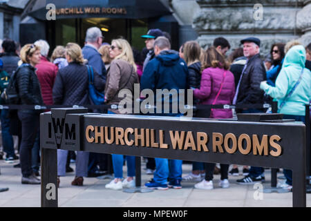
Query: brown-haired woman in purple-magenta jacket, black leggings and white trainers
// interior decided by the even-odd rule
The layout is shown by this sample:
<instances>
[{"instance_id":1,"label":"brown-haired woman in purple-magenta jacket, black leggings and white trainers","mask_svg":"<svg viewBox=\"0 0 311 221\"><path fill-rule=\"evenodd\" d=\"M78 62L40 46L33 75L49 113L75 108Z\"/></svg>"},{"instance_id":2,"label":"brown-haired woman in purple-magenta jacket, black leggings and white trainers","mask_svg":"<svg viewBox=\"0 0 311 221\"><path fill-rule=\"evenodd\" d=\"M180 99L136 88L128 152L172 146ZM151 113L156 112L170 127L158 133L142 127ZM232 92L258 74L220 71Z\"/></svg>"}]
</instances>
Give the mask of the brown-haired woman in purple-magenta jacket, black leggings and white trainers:
<instances>
[{"instance_id":1,"label":"brown-haired woman in purple-magenta jacket, black leggings and white trainers","mask_svg":"<svg viewBox=\"0 0 311 221\"><path fill-rule=\"evenodd\" d=\"M200 88L194 89L194 97L200 104L232 104L235 94L234 75L229 71L225 57L214 47L207 48L202 61ZM211 118L231 118L231 109L211 109ZM205 163L205 180L194 185L196 189L214 189L213 172L215 164ZM228 188L229 165L220 164L219 186Z\"/></svg>"}]
</instances>

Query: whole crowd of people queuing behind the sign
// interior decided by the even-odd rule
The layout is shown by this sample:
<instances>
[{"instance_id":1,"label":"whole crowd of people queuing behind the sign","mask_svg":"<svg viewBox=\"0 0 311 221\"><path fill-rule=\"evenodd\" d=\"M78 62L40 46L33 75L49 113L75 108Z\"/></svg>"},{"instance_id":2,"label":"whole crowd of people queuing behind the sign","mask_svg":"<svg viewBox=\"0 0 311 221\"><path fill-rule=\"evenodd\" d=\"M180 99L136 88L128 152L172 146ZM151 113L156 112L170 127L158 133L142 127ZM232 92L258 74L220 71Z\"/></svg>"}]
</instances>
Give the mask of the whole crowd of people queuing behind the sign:
<instances>
[{"instance_id":1,"label":"whole crowd of people queuing behind the sign","mask_svg":"<svg viewBox=\"0 0 311 221\"><path fill-rule=\"evenodd\" d=\"M206 50L197 41L187 41L179 52L171 49L171 39L160 29L142 35L146 44L141 52L132 48L126 39L104 42L102 31L89 28L83 48L68 43L57 46L50 59L50 47L45 40L35 41L20 48L17 42L4 39L0 44L1 93L8 82L15 79L19 104L79 105L93 104L88 96L88 74L93 70L94 86L104 93L105 104L118 105L120 90L133 93L134 85L141 90L192 89L194 104L263 104L278 102L278 112L285 119L305 122L305 104L311 100L311 44L304 47L299 41L276 43L270 55L262 59L261 40L256 37L241 39L241 47L234 48L223 37L214 39ZM91 68L91 69L90 69ZM4 76L4 77L3 77ZM13 77L14 76L14 77ZM143 97L142 97L143 99ZM164 98L160 98L164 102ZM5 102L1 99L2 104ZM174 102L172 97L169 102ZM97 110L93 110L97 111ZM236 113L263 113L265 108L236 109ZM102 113L102 111L100 111ZM6 162L20 161L21 183L40 184L39 179L39 114L38 110L1 110L1 131ZM117 109L108 114L120 114ZM155 113L179 117L181 113ZM194 117L232 118L231 109L196 110ZM15 151L12 135L19 137ZM16 153L19 153L19 157ZM120 190L135 186L135 157L57 150L58 185L60 177L73 171L70 160L75 160L75 179L72 185L82 186L84 177L104 175L109 157L114 179L106 189ZM127 177L122 166L126 160ZM153 179L144 184L151 189L180 189L182 182L197 182L197 189L214 189L216 164L192 162L192 171L182 177L182 160L147 158L147 174ZM220 164L221 188L228 188L228 175L239 175L238 165ZM280 188L292 188L292 171L283 170L286 182ZM242 179L237 184L254 184L265 180L261 167L243 166Z\"/></svg>"}]
</instances>

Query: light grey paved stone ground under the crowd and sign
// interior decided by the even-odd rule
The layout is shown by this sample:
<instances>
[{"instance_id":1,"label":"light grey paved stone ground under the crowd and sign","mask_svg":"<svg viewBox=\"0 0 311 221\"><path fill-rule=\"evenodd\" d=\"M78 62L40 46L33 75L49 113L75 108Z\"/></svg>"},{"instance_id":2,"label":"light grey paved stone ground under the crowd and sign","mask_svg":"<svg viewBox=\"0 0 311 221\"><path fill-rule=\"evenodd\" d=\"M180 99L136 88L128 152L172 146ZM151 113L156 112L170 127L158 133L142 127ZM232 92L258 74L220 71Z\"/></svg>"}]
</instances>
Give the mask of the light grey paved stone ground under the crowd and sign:
<instances>
[{"instance_id":1,"label":"light grey paved stone ground under the crowd and sign","mask_svg":"<svg viewBox=\"0 0 311 221\"><path fill-rule=\"evenodd\" d=\"M18 162L18 161L17 161ZM70 164L75 168L75 164ZM145 163L142 160L142 184L151 179L146 175ZM21 184L20 169L13 168L0 160L0 187L9 187L10 190L0 193L0 207L7 206L40 206L40 186ZM183 175L191 171L191 164L183 164ZM241 170L240 170L241 171ZM279 173L278 176L283 175ZM194 182L182 182L182 189L167 191L153 191L151 193L124 193L105 189L110 180L84 178L84 186L71 186L74 173L61 177L59 188L59 206L61 207L288 207L292 206L292 193L261 193L254 185L236 184L236 179L242 177L229 176L229 189L218 187L220 175L214 177L214 189L211 191L194 189ZM126 166L124 166L126 176ZM266 182L263 187L270 186L270 170L265 171ZM255 200L254 195L257 200ZM262 196L262 198L260 197ZM259 199L258 199L259 198ZM307 206L311 206L311 195L307 194Z\"/></svg>"}]
</instances>

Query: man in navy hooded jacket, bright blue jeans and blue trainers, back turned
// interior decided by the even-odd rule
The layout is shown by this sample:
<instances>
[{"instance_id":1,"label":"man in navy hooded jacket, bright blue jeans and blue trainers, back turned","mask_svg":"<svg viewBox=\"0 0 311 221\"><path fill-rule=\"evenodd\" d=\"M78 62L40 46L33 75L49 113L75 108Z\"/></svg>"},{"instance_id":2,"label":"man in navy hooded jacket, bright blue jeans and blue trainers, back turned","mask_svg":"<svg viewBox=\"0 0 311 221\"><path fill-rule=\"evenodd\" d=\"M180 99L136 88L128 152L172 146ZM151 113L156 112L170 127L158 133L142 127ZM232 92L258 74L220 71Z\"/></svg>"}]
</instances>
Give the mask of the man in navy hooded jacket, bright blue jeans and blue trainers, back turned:
<instances>
[{"instance_id":1,"label":"man in navy hooded jacket, bright blue jeans and blue trainers, back turned","mask_svg":"<svg viewBox=\"0 0 311 221\"><path fill-rule=\"evenodd\" d=\"M177 93L180 89L187 89L188 68L186 62L181 59L178 52L171 50L171 44L166 37L158 37L154 42L154 52L156 57L148 62L142 78L140 80L141 89L151 89L156 95L157 89L176 89ZM169 103L176 105L178 100L171 96ZM177 96L179 97L179 96ZM163 96L155 96L155 101L164 104ZM180 113L160 113L159 115L180 116ZM156 111L155 111L156 113ZM153 174L153 180L145 184L151 189L174 189L182 188L180 182L182 180L182 160L167 160L156 158L156 171ZM169 185L167 180L169 178Z\"/></svg>"}]
</instances>

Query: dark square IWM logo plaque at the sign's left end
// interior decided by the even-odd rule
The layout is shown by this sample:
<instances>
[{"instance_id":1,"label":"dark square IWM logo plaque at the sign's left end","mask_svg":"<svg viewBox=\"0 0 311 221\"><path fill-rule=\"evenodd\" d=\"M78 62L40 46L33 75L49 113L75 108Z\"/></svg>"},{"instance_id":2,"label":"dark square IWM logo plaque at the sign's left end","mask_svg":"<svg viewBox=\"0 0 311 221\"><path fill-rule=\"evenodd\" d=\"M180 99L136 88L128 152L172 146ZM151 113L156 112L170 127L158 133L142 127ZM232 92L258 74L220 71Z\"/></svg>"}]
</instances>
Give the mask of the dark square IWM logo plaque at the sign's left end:
<instances>
[{"instance_id":1,"label":"dark square IWM logo plaque at the sign's left end","mask_svg":"<svg viewBox=\"0 0 311 221\"><path fill-rule=\"evenodd\" d=\"M52 109L40 116L41 146L45 148L81 151L80 121L87 108Z\"/></svg>"}]
</instances>

